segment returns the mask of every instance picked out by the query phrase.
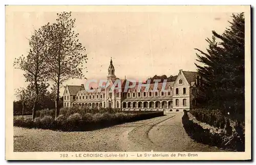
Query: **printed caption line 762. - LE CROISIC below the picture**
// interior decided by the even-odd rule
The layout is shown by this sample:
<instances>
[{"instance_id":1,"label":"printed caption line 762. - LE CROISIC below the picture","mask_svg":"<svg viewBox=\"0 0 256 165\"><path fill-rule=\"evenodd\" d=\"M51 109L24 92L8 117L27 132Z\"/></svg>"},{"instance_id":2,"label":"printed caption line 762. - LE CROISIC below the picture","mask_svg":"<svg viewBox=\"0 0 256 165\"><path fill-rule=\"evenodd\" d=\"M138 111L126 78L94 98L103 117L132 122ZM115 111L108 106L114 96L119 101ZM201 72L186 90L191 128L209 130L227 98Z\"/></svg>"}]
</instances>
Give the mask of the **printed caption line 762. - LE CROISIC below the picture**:
<instances>
[{"instance_id":1,"label":"printed caption line 762. - LE CROISIC below the picture","mask_svg":"<svg viewBox=\"0 0 256 165\"><path fill-rule=\"evenodd\" d=\"M144 154L138 154L137 155L128 155L128 154L75 154L75 157L128 157L128 156L137 156L137 157L196 157L198 154L194 153L178 153L178 154L156 154L156 153L144 153ZM60 154L60 157L69 157L68 154ZM73 155L72 155L73 157Z\"/></svg>"}]
</instances>

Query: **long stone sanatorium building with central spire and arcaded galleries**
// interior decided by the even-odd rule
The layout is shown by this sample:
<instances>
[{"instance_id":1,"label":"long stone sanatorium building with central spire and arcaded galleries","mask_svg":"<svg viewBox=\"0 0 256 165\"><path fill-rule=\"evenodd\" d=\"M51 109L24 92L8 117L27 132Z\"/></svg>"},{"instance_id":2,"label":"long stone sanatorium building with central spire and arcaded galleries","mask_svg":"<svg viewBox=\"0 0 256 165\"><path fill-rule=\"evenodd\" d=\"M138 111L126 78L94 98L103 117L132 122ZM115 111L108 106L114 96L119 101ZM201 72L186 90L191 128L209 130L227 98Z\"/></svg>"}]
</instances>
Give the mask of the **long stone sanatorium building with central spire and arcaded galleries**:
<instances>
[{"instance_id":1,"label":"long stone sanatorium building with central spire and arcaded galleries","mask_svg":"<svg viewBox=\"0 0 256 165\"><path fill-rule=\"evenodd\" d=\"M101 87L100 92L88 92L83 84L67 85L63 93L63 106L178 112L183 109L189 110L197 104L194 97L201 82L198 73L179 70L177 79L173 82L158 83L156 86L136 83L133 88L125 91L125 84L130 82L115 76L112 59L107 79L110 85L106 88ZM116 85L116 80L120 81L121 90L111 88Z\"/></svg>"}]
</instances>

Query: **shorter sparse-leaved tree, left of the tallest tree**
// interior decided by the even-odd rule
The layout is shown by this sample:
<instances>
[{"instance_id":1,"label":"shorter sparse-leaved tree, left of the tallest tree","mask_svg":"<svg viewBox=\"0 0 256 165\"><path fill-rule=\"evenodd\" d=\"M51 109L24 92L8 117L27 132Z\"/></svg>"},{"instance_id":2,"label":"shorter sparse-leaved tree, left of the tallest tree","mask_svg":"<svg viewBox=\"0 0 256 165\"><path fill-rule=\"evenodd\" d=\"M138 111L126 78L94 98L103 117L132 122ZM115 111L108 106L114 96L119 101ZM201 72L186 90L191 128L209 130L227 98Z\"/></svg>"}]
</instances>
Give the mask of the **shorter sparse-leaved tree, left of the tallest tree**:
<instances>
[{"instance_id":1,"label":"shorter sparse-leaved tree, left of the tallest tree","mask_svg":"<svg viewBox=\"0 0 256 165\"><path fill-rule=\"evenodd\" d=\"M34 104L32 109L32 119L35 118L35 111L38 104L39 89L38 84L46 81L46 74L49 73L48 39L50 32L49 23L38 30L34 30L29 39L30 50L28 55L15 58L14 67L24 70L26 82L33 84L35 91Z\"/></svg>"}]
</instances>

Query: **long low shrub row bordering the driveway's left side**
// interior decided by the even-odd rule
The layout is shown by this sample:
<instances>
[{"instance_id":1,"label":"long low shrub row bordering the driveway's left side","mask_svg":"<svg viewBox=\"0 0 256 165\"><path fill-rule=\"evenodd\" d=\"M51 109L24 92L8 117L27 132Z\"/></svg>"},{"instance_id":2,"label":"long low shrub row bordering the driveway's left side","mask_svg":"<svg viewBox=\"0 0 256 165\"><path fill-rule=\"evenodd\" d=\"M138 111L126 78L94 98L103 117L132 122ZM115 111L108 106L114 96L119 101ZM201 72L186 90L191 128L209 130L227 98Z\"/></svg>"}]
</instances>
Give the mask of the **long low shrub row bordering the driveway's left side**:
<instances>
[{"instance_id":1,"label":"long low shrub row bordering the driveway's left side","mask_svg":"<svg viewBox=\"0 0 256 165\"><path fill-rule=\"evenodd\" d=\"M67 115L67 114L66 114ZM69 115L60 114L56 120L51 115L22 120L14 119L14 126L26 128L41 128L62 131L89 131L98 128L113 126L116 124L134 122L138 120L150 119L163 115L162 111L148 113L74 113Z\"/></svg>"}]
</instances>

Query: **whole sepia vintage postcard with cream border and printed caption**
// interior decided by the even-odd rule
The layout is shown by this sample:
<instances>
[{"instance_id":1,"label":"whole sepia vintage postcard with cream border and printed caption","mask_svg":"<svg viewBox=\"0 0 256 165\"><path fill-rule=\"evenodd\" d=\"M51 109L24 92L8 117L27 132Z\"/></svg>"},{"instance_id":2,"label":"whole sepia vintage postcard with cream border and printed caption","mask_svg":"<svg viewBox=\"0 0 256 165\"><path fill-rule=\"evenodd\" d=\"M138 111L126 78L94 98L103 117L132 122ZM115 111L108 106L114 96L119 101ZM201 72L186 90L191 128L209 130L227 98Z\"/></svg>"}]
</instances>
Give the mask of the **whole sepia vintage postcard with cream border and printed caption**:
<instances>
[{"instance_id":1,"label":"whole sepia vintage postcard with cream border and printed caption","mask_svg":"<svg viewBox=\"0 0 256 165\"><path fill-rule=\"evenodd\" d=\"M250 160L250 6L6 6L7 160Z\"/></svg>"}]
</instances>

